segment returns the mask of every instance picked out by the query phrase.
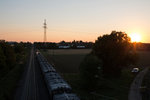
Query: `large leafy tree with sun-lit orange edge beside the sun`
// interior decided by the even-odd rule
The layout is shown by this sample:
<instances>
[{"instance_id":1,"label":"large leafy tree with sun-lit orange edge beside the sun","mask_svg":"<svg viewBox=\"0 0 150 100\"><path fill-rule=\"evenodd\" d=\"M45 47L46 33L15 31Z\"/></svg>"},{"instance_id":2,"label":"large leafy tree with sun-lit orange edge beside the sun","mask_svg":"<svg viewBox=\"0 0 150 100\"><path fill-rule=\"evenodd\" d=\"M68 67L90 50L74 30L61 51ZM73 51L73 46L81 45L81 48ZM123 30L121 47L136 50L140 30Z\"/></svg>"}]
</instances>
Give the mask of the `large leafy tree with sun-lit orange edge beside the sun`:
<instances>
[{"instance_id":1,"label":"large leafy tree with sun-lit orange edge beside the sun","mask_svg":"<svg viewBox=\"0 0 150 100\"><path fill-rule=\"evenodd\" d=\"M103 61L105 76L119 76L122 68L137 61L133 44L124 32L112 31L110 35L98 37L92 53Z\"/></svg>"}]
</instances>

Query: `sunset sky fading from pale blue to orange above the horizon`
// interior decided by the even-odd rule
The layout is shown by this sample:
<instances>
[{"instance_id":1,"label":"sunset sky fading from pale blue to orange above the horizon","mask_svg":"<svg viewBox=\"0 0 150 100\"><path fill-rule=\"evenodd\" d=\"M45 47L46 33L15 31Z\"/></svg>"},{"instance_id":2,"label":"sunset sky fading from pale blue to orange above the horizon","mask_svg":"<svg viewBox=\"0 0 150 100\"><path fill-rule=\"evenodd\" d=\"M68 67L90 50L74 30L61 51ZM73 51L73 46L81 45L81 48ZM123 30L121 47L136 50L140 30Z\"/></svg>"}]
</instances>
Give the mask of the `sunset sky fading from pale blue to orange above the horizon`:
<instances>
[{"instance_id":1,"label":"sunset sky fading from pale blue to orange above the horizon","mask_svg":"<svg viewBox=\"0 0 150 100\"><path fill-rule=\"evenodd\" d=\"M47 42L83 40L122 31L150 43L150 0L0 0L0 39Z\"/></svg>"}]
</instances>

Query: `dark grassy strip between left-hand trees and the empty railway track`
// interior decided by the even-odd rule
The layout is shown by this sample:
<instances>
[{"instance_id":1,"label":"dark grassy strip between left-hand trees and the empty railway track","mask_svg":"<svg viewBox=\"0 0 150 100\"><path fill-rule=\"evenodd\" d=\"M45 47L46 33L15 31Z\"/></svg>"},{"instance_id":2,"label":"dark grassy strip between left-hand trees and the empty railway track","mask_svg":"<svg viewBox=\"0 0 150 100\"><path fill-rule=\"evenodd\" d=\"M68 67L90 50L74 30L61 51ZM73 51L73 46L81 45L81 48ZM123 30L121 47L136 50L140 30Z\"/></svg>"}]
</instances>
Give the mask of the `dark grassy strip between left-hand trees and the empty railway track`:
<instances>
[{"instance_id":1,"label":"dark grassy strip between left-hand trees and the empty railway track","mask_svg":"<svg viewBox=\"0 0 150 100\"><path fill-rule=\"evenodd\" d=\"M0 100L13 100L17 82L24 70L28 52L29 50L26 50L25 55L21 56L22 60L0 79Z\"/></svg>"}]
</instances>

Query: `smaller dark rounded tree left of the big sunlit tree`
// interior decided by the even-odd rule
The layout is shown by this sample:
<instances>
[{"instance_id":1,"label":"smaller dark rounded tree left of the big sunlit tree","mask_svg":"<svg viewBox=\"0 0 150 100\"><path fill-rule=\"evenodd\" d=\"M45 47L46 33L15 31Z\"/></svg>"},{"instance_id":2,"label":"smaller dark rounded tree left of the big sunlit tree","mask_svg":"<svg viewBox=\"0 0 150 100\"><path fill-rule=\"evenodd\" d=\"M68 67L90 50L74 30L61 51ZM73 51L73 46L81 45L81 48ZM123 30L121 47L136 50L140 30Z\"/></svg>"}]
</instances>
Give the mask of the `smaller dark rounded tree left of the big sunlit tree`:
<instances>
[{"instance_id":1,"label":"smaller dark rounded tree left of the big sunlit tree","mask_svg":"<svg viewBox=\"0 0 150 100\"><path fill-rule=\"evenodd\" d=\"M102 62L94 55L87 55L80 65L82 85L88 89L94 89L101 77Z\"/></svg>"}]
</instances>

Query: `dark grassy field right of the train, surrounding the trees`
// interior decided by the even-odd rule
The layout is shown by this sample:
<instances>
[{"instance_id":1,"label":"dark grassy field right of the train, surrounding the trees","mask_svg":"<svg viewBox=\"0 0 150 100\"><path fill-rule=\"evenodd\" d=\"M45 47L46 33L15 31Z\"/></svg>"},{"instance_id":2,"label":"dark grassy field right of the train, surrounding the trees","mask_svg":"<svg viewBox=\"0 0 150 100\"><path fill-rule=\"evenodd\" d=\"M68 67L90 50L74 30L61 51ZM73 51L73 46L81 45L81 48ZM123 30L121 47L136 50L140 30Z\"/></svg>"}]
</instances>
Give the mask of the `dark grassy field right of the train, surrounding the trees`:
<instances>
[{"instance_id":1,"label":"dark grassy field right of the train, surrounding the trees","mask_svg":"<svg viewBox=\"0 0 150 100\"><path fill-rule=\"evenodd\" d=\"M101 79L100 86L94 93L84 91L80 87L78 67L86 54L91 49L58 49L41 50L48 61L55 65L56 70L72 86L73 90L82 100L127 100L130 84L134 78L131 74L132 68L123 70L118 79ZM141 69L150 66L150 52L139 51L137 67Z\"/></svg>"}]
</instances>

